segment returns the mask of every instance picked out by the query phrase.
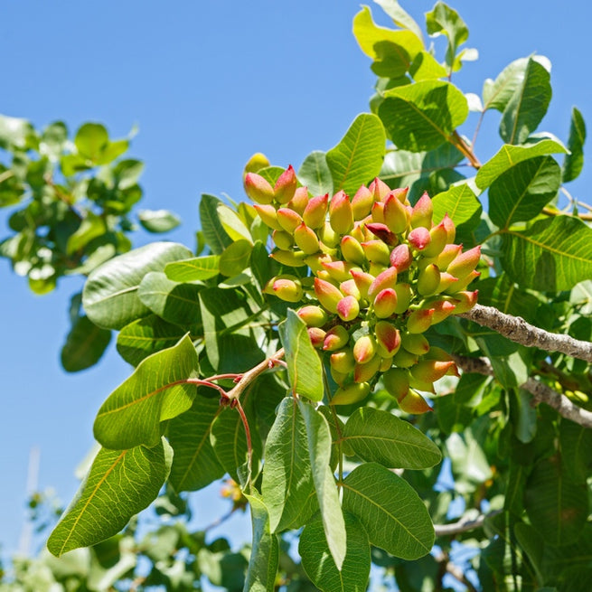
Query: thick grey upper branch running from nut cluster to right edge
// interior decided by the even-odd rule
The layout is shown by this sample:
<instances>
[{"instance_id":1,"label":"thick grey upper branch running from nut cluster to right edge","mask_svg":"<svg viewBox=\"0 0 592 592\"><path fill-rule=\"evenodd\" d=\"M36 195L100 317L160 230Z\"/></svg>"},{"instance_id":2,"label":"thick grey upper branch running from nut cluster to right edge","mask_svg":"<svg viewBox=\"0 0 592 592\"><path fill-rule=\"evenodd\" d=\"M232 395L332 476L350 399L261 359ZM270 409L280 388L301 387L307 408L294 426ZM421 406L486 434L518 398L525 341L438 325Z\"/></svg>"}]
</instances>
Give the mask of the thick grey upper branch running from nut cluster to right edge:
<instances>
[{"instance_id":1,"label":"thick grey upper branch running from nut cluster to right edge","mask_svg":"<svg viewBox=\"0 0 592 592\"><path fill-rule=\"evenodd\" d=\"M572 358L592 362L592 343L579 341L569 335L549 333L527 323L520 316L505 315L493 306L475 305L470 311L458 316L493 329L512 342L538 347L547 352L566 353Z\"/></svg>"}]
</instances>

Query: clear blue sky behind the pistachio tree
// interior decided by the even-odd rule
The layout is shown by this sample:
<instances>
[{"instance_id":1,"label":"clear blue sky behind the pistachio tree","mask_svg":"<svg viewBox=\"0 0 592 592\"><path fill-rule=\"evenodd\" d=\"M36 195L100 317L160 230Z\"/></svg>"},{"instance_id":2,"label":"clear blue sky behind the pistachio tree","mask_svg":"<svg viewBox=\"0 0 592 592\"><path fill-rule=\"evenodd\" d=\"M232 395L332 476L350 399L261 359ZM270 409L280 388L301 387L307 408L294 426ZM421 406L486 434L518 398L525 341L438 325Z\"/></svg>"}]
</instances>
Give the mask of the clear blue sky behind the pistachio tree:
<instances>
[{"instance_id":1,"label":"clear blue sky behind the pistachio tree","mask_svg":"<svg viewBox=\"0 0 592 592\"><path fill-rule=\"evenodd\" d=\"M371 4L369 0L369 4ZM402 0L423 25L432 2ZM483 80L532 52L553 64L553 99L542 129L567 141L570 109L592 122L589 23L584 0L457 0L479 61L453 81L481 92ZM193 248L200 193L244 199L241 172L254 152L299 165L326 150L368 110L374 76L353 39L354 0L4 0L0 113L36 126L56 119L71 130L104 123L111 136L139 126L130 155L146 162L141 207L169 208L183 226L167 236ZM372 12L381 14L378 5ZM387 23L383 16L381 23ZM477 144L493 154L499 117L485 118ZM472 136L473 128L466 130ZM590 202L589 167L572 191ZM7 211L0 211L0 238ZM135 244L150 240L140 232ZM33 296L0 260L0 545L16 550L32 446L41 448L39 486L64 502L77 488L74 467L92 444L92 422L130 368L112 345L99 366L61 371L68 301L80 287L63 280ZM212 496L200 498L209 506ZM199 511L198 511L199 514ZM199 516L198 516L199 518ZM211 521L203 510L202 524ZM242 523L241 523L242 524Z\"/></svg>"}]
</instances>

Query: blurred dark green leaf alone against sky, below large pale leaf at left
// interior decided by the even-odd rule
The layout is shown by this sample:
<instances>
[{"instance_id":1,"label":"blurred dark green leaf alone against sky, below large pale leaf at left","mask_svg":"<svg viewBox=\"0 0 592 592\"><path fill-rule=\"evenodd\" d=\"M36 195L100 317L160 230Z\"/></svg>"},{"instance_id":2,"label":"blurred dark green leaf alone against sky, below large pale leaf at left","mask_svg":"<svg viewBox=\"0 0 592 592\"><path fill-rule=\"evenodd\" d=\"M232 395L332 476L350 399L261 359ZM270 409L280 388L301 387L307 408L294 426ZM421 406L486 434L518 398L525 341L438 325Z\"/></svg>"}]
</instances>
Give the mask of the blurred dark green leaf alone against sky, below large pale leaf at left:
<instances>
[{"instance_id":1,"label":"blurred dark green leaf alone against sky, below large pale leaf at left","mask_svg":"<svg viewBox=\"0 0 592 592\"><path fill-rule=\"evenodd\" d=\"M61 365L67 372L78 372L94 366L111 341L111 332L101 329L89 321L88 316L80 316L70 329L61 348Z\"/></svg>"}]
</instances>

